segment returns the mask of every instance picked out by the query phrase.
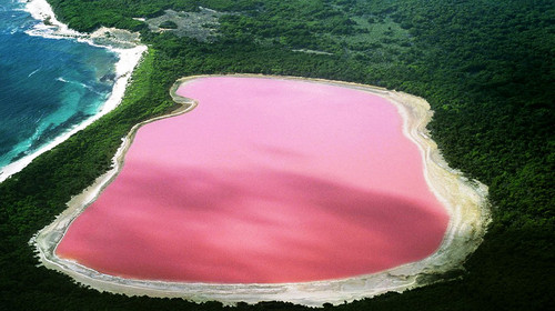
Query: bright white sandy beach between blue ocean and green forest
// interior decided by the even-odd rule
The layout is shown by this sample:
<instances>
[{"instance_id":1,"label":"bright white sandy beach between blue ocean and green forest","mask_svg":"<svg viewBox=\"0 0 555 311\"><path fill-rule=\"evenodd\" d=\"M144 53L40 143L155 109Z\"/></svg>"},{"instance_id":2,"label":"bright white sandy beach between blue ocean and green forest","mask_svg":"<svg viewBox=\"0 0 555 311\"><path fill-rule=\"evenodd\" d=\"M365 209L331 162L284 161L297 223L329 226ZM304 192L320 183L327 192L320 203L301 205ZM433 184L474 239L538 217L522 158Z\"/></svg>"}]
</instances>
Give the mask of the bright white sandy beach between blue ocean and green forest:
<instances>
[{"instance_id":1,"label":"bright white sandy beach between blue ocean and green forest","mask_svg":"<svg viewBox=\"0 0 555 311\"><path fill-rule=\"evenodd\" d=\"M108 112L115 109L115 107L118 107L121 100L123 99L127 84L129 82L129 79L131 78L134 68L139 64L142 54L147 51L147 47L139 44L138 40L132 40L132 41L112 40L112 42L104 42L105 44L95 43L95 40L104 37L105 32L118 33L119 31L117 29L104 28L95 31L94 33L88 34L71 30L68 28L68 26L61 23L56 19L52 8L47 2L47 0L31 0L27 2L26 11L28 11L34 19L42 21L42 23L39 23L33 29L27 31L29 36L39 36L50 39L77 40L79 42L84 42L91 46L101 47L117 53L119 58L118 62L115 63L117 77L110 97L100 107L98 113L84 120L83 122L77 124L75 127L68 129L68 131L57 137L54 140L50 141L46 146L41 147L33 153L28 154L14 162L11 162L10 164L3 168L0 168L0 182L4 181L14 173L24 169L32 162L32 160L34 160L40 154L62 143L74 133L89 127L92 122L97 121ZM51 26L44 24L44 21L47 20ZM131 34L128 37L138 38L138 34Z\"/></svg>"}]
</instances>

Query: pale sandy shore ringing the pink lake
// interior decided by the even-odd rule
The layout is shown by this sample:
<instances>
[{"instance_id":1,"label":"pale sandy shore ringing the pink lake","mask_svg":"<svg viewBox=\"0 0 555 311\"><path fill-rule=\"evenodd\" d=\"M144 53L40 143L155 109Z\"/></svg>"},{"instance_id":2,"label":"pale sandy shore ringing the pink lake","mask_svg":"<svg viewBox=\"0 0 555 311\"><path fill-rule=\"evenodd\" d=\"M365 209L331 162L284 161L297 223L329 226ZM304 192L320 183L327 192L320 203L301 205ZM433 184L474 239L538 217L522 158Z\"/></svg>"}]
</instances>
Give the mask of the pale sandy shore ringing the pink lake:
<instances>
[{"instance_id":1,"label":"pale sandy shore ringing the pink lake","mask_svg":"<svg viewBox=\"0 0 555 311\"><path fill-rule=\"evenodd\" d=\"M175 94L183 82L212 76L196 76L179 79L170 93L182 106L171 114L158 117L133 127L114 156L113 168L99 177L81 194L68 202L68 209L57 217L54 222L37 233L30 241L37 248L43 265L69 274L78 283L99 291L123 293L128 295L179 297L193 301L218 300L232 304L240 301L255 303L265 300L279 300L305 305L322 305L325 302L340 304L362 298L371 298L387 291L402 292L443 280L438 274L461 269L465 258L474 252L482 242L490 222L487 187L470 181L462 173L448 168L437 146L425 129L433 112L422 98L402 92L389 91L371 86L305 79L296 77L274 77L260 74L231 74L230 77L253 77L264 79L291 79L353 88L380 96L397 108L403 119L403 133L418 147L423 156L424 175L430 189L446 208L450 223L440 248L424 260L403 264L374 274L357 275L347 279L275 284L211 284L181 283L162 281L129 280L99 273L77 262L60 259L56 247L65 230L100 192L118 175L125 151L131 146L137 130L149 122L185 113L196 106L191 99Z\"/></svg>"}]
</instances>

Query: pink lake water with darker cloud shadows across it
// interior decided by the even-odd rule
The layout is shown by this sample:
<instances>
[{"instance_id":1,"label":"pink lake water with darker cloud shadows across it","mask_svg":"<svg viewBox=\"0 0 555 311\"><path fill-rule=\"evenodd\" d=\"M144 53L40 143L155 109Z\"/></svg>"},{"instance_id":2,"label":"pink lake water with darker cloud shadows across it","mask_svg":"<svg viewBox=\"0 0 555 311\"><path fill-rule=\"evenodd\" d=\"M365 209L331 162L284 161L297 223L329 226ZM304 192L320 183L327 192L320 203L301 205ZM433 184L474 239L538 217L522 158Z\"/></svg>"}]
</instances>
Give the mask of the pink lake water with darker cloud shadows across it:
<instances>
[{"instance_id":1,"label":"pink lake water with darker cloud shadows across it","mask_svg":"<svg viewBox=\"0 0 555 311\"><path fill-rule=\"evenodd\" d=\"M386 100L219 77L142 127L57 254L133 279L274 283L377 272L434 252L448 217Z\"/></svg>"}]
</instances>

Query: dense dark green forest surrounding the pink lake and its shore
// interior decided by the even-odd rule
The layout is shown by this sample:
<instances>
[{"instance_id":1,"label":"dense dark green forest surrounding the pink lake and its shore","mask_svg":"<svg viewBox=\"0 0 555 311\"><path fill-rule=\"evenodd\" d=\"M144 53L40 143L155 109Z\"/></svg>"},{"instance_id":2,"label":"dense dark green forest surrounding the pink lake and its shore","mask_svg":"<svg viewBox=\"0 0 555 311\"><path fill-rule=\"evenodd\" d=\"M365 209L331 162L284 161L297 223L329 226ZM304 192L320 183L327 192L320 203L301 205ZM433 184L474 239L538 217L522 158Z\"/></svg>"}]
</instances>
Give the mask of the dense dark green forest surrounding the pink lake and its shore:
<instances>
[{"instance_id":1,"label":"dense dark green forest surrounding the pink lake and its shore","mask_svg":"<svg viewBox=\"0 0 555 311\"><path fill-rule=\"evenodd\" d=\"M180 77L269 73L355 81L425 98L447 162L490 187L493 224L456 280L334 310L544 310L555 303L555 2L552 0L49 0L91 31L140 31L149 53L122 104L0 184L2 310L309 310L127 298L74 285L29 239L108 170L121 138L174 109ZM201 42L133 18L225 12ZM324 309L332 309L325 305Z\"/></svg>"}]
</instances>

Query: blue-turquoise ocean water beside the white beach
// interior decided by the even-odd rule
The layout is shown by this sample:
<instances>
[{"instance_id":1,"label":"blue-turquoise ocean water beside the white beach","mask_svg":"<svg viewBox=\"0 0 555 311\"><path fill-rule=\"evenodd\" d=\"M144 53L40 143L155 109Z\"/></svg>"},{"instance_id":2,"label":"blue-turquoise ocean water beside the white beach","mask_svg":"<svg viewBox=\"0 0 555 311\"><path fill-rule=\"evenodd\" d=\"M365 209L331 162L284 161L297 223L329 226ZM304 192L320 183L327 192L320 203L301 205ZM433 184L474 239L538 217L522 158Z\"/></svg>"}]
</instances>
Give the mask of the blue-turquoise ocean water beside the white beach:
<instances>
[{"instance_id":1,"label":"blue-turquoise ocean water beside the white beach","mask_svg":"<svg viewBox=\"0 0 555 311\"><path fill-rule=\"evenodd\" d=\"M39 21L0 0L0 171L94 116L113 87L115 53L26 33Z\"/></svg>"}]
</instances>

